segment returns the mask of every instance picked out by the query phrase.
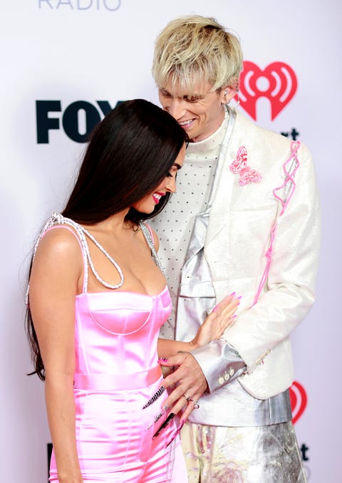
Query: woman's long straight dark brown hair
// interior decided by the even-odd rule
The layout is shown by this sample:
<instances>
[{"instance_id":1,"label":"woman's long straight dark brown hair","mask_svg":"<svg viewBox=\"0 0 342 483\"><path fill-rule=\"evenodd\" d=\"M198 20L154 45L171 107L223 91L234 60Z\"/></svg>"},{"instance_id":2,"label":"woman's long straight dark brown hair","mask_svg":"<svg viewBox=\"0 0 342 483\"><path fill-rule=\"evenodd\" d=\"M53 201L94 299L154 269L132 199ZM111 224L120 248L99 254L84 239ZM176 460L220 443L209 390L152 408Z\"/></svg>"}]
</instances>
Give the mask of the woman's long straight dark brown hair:
<instances>
[{"instance_id":1,"label":"woman's long straight dark brown hair","mask_svg":"<svg viewBox=\"0 0 342 483\"><path fill-rule=\"evenodd\" d=\"M157 105L142 99L120 103L93 130L63 216L78 223L93 224L130 208L126 219L135 224L153 217L165 207L169 193L160 199L151 214L137 212L132 205L167 176L187 141L185 130ZM45 380L29 306L26 333L35 368L31 374L36 373Z\"/></svg>"}]
</instances>

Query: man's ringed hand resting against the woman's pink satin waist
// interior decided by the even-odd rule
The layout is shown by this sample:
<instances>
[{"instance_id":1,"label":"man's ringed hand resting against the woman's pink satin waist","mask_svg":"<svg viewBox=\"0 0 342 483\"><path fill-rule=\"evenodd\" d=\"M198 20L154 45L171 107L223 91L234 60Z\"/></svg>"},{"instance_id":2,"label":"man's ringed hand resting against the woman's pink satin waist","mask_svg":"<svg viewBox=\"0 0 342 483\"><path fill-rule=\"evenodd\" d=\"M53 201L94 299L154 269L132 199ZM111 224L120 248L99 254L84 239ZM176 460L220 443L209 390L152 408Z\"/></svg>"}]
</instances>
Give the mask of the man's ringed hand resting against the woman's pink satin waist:
<instances>
[{"instance_id":1,"label":"man's ringed hand resting against the woman's pink satin waist","mask_svg":"<svg viewBox=\"0 0 342 483\"><path fill-rule=\"evenodd\" d=\"M168 375L162 384L169 392L165 405L175 414L184 409L180 422L185 421L207 390L207 380L197 360L190 353L178 353L167 360L160 360L160 365L175 368L175 372Z\"/></svg>"}]
</instances>

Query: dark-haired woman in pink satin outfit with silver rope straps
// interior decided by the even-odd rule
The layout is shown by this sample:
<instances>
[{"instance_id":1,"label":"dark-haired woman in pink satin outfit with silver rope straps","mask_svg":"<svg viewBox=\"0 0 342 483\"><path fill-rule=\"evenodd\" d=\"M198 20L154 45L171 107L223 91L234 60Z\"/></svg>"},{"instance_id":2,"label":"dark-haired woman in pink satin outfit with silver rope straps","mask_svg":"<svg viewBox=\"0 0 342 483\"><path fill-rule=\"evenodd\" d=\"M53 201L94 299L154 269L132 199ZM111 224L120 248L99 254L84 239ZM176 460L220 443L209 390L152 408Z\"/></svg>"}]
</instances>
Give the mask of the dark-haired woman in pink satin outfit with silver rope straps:
<instances>
[{"instance_id":1,"label":"dark-haired woman in pink satin outfit with silver rope straps","mask_svg":"<svg viewBox=\"0 0 342 483\"><path fill-rule=\"evenodd\" d=\"M189 343L158 341L171 303L143 220L175 192L186 142L152 103L121 103L95 128L66 208L38 237L26 322L45 380L51 482L187 481L177 432L199 404L176 391L163 405L157 348L165 358L219 338L238 301L220 303Z\"/></svg>"}]
</instances>

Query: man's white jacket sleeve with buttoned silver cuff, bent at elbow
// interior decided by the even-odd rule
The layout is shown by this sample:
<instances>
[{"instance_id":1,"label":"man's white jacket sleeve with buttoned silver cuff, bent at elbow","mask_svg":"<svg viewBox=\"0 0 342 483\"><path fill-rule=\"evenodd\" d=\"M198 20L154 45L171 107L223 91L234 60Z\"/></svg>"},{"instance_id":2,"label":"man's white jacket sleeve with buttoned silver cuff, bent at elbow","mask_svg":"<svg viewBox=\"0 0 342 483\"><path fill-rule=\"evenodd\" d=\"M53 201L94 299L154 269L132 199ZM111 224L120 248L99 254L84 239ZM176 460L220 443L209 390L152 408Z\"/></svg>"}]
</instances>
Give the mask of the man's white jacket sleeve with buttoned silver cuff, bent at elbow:
<instances>
[{"instance_id":1,"label":"man's white jacket sleeve with buttoned silver cuff, bent at elbow","mask_svg":"<svg viewBox=\"0 0 342 483\"><path fill-rule=\"evenodd\" d=\"M271 266L259 300L242 309L220 341L193 353L211 392L222 387L224 373L232 373L232 360L222 356L227 350L234 348L247 373L252 373L277 344L289 337L314 303L320 237L318 193L311 155L304 145L298 157L294 194L277 220ZM208 358L210 364L205 363Z\"/></svg>"}]
</instances>

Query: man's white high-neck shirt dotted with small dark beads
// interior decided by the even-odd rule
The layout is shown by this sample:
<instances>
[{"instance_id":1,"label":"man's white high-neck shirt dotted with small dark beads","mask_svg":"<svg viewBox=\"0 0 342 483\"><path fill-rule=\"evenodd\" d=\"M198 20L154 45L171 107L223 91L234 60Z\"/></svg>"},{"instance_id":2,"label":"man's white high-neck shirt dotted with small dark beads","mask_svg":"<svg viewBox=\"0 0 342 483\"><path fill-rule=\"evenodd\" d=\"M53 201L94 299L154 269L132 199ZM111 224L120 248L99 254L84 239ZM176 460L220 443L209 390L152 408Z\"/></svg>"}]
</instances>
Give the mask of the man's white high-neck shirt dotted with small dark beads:
<instances>
[{"instance_id":1,"label":"man's white high-neck shirt dotted with small dark beads","mask_svg":"<svg viewBox=\"0 0 342 483\"><path fill-rule=\"evenodd\" d=\"M172 299L172 313L160 331L164 338L175 336L175 314L180 274L198 213L207 209L217 168L219 152L229 121L225 111L222 125L207 139L190 142L185 163L177 175L177 192L162 213L151 220L160 239L160 257L167 274L167 286ZM167 224L167 229L165 225Z\"/></svg>"}]
</instances>

